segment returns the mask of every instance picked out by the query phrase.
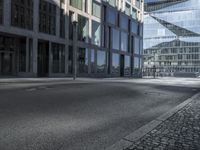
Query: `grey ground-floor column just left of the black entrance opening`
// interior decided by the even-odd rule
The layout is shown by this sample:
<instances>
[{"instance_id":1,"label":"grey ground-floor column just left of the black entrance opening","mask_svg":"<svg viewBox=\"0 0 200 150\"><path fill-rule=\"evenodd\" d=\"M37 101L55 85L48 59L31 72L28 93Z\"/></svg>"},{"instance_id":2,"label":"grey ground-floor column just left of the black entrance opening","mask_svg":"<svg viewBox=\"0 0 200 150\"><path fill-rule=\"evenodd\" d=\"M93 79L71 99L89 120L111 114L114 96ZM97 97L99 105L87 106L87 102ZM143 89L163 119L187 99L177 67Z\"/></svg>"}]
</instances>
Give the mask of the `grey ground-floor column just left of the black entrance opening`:
<instances>
[{"instance_id":1,"label":"grey ground-floor column just left of the black entrance opening","mask_svg":"<svg viewBox=\"0 0 200 150\"><path fill-rule=\"evenodd\" d=\"M37 76L38 39L33 38L33 74Z\"/></svg>"}]
</instances>

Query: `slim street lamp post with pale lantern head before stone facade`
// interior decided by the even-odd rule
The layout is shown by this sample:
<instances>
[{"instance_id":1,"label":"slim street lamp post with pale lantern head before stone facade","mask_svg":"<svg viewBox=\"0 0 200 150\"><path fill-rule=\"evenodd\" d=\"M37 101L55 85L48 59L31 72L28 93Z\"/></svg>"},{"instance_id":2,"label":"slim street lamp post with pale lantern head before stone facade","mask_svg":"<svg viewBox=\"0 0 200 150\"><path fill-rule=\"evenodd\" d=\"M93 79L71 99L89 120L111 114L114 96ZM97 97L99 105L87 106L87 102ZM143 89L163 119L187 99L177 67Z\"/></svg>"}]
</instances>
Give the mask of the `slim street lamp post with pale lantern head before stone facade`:
<instances>
[{"instance_id":1,"label":"slim street lamp post with pale lantern head before stone facade","mask_svg":"<svg viewBox=\"0 0 200 150\"><path fill-rule=\"evenodd\" d=\"M78 19L77 14L72 15L72 25L73 25L73 80L76 80L77 76L77 25Z\"/></svg>"}]
</instances>

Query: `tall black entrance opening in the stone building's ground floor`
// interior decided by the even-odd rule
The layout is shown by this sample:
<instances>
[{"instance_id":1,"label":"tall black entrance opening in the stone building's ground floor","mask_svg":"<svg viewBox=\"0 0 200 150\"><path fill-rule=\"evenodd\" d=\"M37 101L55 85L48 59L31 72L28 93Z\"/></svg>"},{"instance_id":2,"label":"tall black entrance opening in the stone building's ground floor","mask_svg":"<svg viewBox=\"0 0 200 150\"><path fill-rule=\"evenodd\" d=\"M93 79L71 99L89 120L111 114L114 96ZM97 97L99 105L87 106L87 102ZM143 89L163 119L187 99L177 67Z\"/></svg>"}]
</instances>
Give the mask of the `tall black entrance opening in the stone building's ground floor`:
<instances>
[{"instance_id":1,"label":"tall black entrance opening in the stone building's ground floor","mask_svg":"<svg viewBox=\"0 0 200 150\"><path fill-rule=\"evenodd\" d=\"M38 76L49 74L49 42L38 42Z\"/></svg>"}]
</instances>

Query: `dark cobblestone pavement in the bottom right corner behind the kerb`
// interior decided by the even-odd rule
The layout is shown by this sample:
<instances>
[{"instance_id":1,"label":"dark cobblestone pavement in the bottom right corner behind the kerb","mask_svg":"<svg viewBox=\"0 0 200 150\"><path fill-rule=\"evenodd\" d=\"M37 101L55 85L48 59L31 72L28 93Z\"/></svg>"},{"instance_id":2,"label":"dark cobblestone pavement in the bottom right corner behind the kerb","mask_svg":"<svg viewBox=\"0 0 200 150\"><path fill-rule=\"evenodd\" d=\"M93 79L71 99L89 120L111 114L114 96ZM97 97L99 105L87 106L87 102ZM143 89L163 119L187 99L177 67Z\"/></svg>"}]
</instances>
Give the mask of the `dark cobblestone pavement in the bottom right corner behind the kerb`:
<instances>
[{"instance_id":1,"label":"dark cobblestone pavement in the bottom right corner behind the kerb","mask_svg":"<svg viewBox=\"0 0 200 150\"><path fill-rule=\"evenodd\" d=\"M200 98L193 100L126 150L200 150Z\"/></svg>"}]
</instances>

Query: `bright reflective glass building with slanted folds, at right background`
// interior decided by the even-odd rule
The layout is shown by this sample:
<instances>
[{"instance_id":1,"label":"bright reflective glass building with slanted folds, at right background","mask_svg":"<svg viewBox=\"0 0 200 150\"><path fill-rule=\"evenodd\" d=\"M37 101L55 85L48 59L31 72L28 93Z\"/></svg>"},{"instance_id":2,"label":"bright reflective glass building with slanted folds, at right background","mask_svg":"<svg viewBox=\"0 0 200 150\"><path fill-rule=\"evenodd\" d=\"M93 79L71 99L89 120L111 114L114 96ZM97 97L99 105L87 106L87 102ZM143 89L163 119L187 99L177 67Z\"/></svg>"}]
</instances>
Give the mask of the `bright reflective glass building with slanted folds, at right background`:
<instances>
[{"instance_id":1,"label":"bright reflective glass building with slanted folds, at right background","mask_svg":"<svg viewBox=\"0 0 200 150\"><path fill-rule=\"evenodd\" d=\"M200 72L200 1L147 0L143 54L144 75Z\"/></svg>"}]
</instances>

